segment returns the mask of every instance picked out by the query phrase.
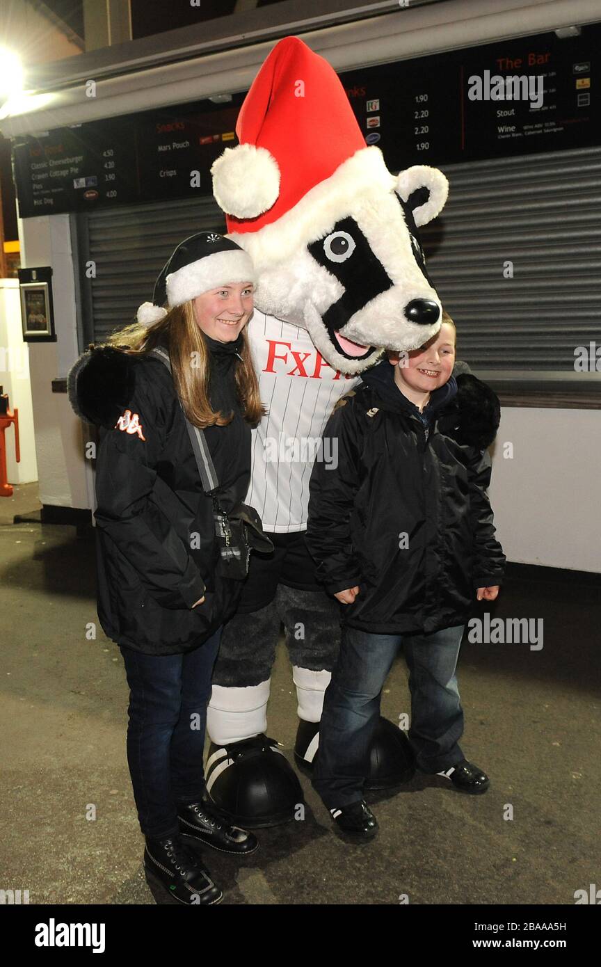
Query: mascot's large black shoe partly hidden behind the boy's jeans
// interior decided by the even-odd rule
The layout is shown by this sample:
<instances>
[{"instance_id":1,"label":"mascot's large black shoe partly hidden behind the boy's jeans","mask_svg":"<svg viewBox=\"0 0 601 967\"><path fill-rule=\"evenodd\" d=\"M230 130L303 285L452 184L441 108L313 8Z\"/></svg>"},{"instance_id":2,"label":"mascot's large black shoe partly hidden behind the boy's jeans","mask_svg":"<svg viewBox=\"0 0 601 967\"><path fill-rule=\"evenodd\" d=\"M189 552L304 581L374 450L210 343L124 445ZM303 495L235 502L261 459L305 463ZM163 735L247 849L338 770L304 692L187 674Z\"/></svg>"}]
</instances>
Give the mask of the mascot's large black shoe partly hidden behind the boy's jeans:
<instances>
[{"instance_id":1,"label":"mascot's large black shoe partly hidden behind the boy's jeans","mask_svg":"<svg viewBox=\"0 0 601 967\"><path fill-rule=\"evenodd\" d=\"M319 722L300 719L295 744L299 768L311 772L319 748ZM363 789L391 789L415 776L415 755L409 739L398 725L380 717L369 755L369 772Z\"/></svg>"}]
</instances>

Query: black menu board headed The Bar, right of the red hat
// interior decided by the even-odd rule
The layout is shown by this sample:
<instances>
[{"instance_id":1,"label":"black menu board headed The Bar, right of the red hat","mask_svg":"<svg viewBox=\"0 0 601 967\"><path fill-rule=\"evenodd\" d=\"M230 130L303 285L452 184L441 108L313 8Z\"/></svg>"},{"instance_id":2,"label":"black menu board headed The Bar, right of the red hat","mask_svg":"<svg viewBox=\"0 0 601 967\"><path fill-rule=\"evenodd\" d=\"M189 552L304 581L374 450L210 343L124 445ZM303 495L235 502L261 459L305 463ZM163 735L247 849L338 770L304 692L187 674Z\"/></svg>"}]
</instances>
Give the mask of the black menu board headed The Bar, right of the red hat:
<instances>
[{"instance_id":1,"label":"black menu board headed The Bar, right of the red hat","mask_svg":"<svg viewBox=\"0 0 601 967\"><path fill-rule=\"evenodd\" d=\"M601 27L500 41L341 74L392 170L601 143ZM595 80L596 75L596 80Z\"/></svg>"}]
</instances>

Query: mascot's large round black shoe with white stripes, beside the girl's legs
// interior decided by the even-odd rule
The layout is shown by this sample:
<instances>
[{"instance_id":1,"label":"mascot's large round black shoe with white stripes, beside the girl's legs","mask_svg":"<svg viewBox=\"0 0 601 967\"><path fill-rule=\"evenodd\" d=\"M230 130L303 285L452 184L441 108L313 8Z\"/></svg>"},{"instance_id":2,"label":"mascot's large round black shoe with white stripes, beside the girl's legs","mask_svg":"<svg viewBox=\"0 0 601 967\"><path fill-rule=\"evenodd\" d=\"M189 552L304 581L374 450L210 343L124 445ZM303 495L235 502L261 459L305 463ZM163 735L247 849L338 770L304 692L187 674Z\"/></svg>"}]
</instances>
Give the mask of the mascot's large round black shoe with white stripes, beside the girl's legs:
<instances>
[{"instance_id":1,"label":"mascot's large round black shoe with white stripes, beside the girl's legs","mask_svg":"<svg viewBox=\"0 0 601 967\"><path fill-rule=\"evenodd\" d=\"M297 774L263 733L228 746L212 743L205 776L214 811L244 829L290 822L304 803Z\"/></svg>"}]
</instances>

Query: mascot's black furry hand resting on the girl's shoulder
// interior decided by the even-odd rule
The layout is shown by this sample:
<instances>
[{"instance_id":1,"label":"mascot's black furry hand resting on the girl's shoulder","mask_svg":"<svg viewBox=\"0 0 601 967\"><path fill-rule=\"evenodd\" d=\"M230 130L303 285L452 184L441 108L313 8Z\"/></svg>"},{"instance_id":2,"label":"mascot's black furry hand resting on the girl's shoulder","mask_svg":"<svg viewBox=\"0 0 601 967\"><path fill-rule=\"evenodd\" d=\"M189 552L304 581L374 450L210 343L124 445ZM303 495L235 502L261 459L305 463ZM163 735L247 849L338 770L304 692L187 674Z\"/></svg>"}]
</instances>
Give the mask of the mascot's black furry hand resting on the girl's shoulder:
<instances>
[{"instance_id":1,"label":"mascot's black furry hand resting on the girl's shoulder","mask_svg":"<svg viewBox=\"0 0 601 967\"><path fill-rule=\"evenodd\" d=\"M139 359L112 346L93 346L82 353L67 377L75 415L111 429L134 394L137 366Z\"/></svg>"}]
</instances>

